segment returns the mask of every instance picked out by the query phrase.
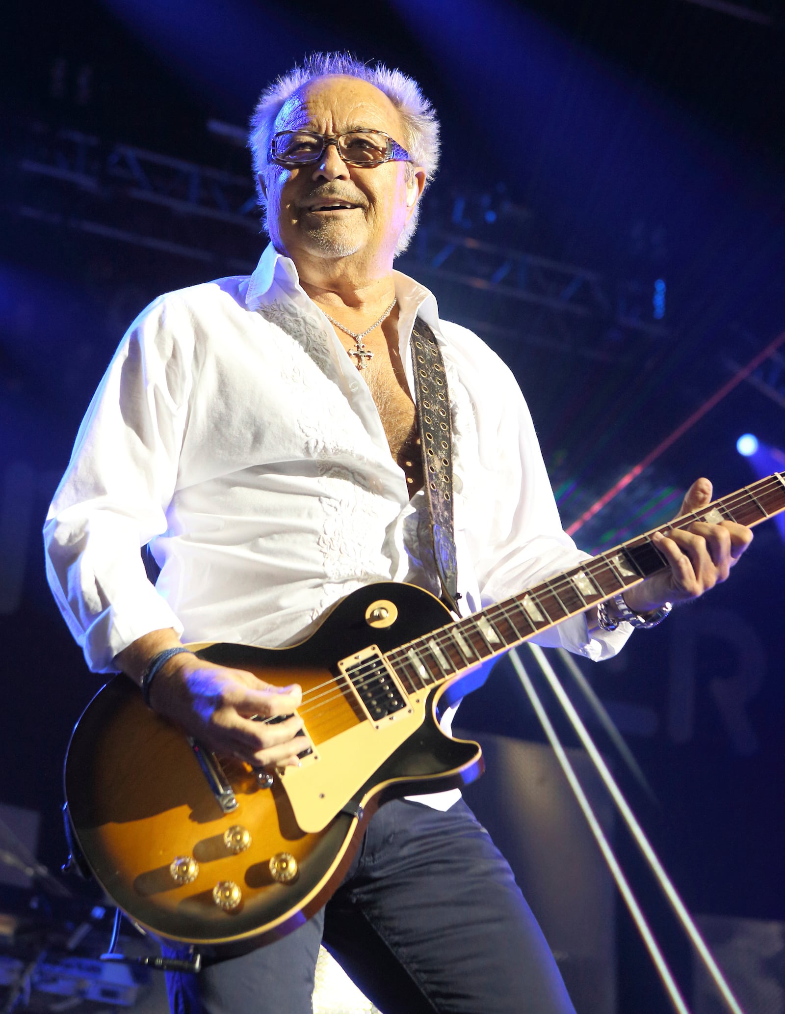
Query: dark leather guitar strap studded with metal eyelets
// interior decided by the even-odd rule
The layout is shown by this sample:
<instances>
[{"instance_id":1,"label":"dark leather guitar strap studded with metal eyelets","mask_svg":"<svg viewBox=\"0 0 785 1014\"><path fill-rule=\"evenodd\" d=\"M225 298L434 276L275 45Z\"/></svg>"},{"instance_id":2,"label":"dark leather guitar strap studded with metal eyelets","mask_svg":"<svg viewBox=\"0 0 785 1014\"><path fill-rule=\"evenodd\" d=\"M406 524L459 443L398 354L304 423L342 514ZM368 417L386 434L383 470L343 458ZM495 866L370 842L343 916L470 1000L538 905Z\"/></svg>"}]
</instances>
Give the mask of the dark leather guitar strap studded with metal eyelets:
<instances>
[{"instance_id":1,"label":"dark leather guitar strap studded with metal eyelets","mask_svg":"<svg viewBox=\"0 0 785 1014\"><path fill-rule=\"evenodd\" d=\"M442 598L458 613L458 564L453 520L453 428L447 373L434 332L416 317L411 333L411 362L422 452L422 482L428 521L417 531L420 552L428 555L442 585Z\"/></svg>"}]
</instances>

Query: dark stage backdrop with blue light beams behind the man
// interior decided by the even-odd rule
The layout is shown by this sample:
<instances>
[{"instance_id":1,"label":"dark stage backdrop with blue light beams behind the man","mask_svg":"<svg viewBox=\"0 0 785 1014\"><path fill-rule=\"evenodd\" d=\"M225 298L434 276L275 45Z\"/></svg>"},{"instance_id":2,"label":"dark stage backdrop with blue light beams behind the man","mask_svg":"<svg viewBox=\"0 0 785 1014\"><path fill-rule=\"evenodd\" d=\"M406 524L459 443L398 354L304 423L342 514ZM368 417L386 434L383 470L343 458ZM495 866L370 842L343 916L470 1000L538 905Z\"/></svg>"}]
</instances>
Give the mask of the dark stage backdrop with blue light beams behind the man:
<instances>
[{"instance_id":1,"label":"dark stage backdrop with blue light beams behind the man","mask_svg":"<svg viewBox=\"0 0 785 1014\"><path fill-rule=\"evenodd\" d=\"M777 352L708 408L785 331L780 3L17 0L2 23L0 803L42 814L47 864L65 853L69 731L101 680L49 595L46 508L136 313L252 269L264 240L241 132L305 53L400 66L434 100L443 169L399 267L516 371L565 525L669 444L578 545L664 521L699 475L719 494L785 467ZM624 787L705 915L785 920L783 575L772 522L728 584L584 666L658 802L617 764ZM541 738L506 662L460 722ZM686 947L618 844L689 993ZM619 918L619 1010L661 1011Z\"/></svg>"}]
</instances>

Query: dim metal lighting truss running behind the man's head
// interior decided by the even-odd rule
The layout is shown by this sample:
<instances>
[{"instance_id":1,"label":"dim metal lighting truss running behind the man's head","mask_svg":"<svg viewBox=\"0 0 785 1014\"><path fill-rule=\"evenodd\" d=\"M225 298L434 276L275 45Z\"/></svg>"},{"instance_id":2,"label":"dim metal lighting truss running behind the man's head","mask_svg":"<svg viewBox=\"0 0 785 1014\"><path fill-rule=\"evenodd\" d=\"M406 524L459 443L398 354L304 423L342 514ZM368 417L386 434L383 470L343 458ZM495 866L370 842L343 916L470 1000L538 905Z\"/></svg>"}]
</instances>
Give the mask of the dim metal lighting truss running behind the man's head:
<instances>
[{"instance_id":1,"label":"dim metal lighting truss running behind the man's head","mask_svg":"<svg viewBox=\"0 0 785 1014\"><path fill-rule=\"evenodd\" d=\"M247 273L255 264L258 209L244 174L42 123L26 125L14 166L21 180L12 210L24 218L232 272ZM486 333L600 359L623 357L625 338L635 339L639 354L641 341L661 341L668 333L653 317L653 279L620 282L479 239L464 214L472 200L477 195L454 198L448 221L425 217L401 260L425 282L439 280L460 293L455 298L465 318ZM486 208L475 217L488 223L496 214ZM604 347L609 336L613 352Z\"/></svg>"}]
</instances>

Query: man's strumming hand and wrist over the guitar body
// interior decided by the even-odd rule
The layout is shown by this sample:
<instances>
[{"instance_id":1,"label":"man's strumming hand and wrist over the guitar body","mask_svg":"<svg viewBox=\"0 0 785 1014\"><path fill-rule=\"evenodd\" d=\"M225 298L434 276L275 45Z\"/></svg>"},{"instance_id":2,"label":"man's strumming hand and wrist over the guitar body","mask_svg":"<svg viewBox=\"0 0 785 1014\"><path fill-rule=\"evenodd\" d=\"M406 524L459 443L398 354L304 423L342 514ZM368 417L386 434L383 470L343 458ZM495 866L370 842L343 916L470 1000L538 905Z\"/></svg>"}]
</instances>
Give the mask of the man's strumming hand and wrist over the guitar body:
<instances>
[{"instance_id":1,"label":"man's strumming hand and wrist over the guitar body","mask_svg":"<svg viewBox=\"0 0 785 1014\"><path fill-rule=\"evenodd\" d=\"M140 685L155 655L179 647L174 631L154 631L120 652L115 662ZM311 745L307 736L297 735L303 721L293 713L301 702L296 683L272 686L252 672L204 662L189 652L168 659L150 687L150 704L159 715L219 757L238 757L254 768L299 765L297 754ZM280 715L292 717L274 724L259 721Z\"/></svg>"}]
</instances>

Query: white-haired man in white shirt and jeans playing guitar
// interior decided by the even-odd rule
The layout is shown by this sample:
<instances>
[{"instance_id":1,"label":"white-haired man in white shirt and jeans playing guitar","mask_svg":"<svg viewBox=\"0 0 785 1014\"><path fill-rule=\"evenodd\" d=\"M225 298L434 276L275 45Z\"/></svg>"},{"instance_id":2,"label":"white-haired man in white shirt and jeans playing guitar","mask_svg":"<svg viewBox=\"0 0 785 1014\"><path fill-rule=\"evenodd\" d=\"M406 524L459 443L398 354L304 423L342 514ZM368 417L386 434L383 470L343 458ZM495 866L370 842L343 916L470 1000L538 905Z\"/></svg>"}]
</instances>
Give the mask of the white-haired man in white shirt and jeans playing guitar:
<instances>
[{"instance_id":1,"label":"white-haired man in white shirt and jeans playing guitar","mask_svg":"<svg viewBox=\"0 0 785 1014\"><path fill-rule=\"evenodd\" d=\"M53 591L93 670L143 685L158 715L217 756L281 773L313 746L300 685L180 649L295 644L375 581L439 594L421 545L416 316L447 373L464 613L586 558L561 529L509 371L393 270L438 160L416 84L317 56L262 94L250 144L269 245L249 278L171 293L137 318L46 539ZM710 500L699 479L683 513ZM719 519L657 533L666 569L541 643L607 657L631 632L619 621L658 619L724 581L751 538ZM386 1012L571 1011L508 866L458 796L382 806L324 910L280 940L217 953L199 975L171 975L173 1010L304 1014L323 935Z\"/></svg>"}]
</instances>

